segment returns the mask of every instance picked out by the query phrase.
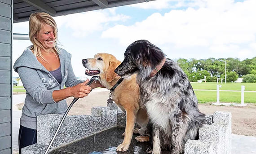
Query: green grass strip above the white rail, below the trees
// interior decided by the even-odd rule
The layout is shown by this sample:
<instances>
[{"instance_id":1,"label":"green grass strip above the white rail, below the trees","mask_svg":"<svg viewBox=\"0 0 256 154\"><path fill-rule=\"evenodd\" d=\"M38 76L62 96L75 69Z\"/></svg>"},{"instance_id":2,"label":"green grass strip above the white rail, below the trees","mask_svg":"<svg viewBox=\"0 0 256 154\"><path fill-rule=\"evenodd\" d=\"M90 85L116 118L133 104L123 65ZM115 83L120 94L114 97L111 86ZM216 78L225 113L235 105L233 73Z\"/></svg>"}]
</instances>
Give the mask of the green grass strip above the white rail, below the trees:
<instances>
[{"instance_id":1,"label":"green grass strip above the white rail, below the trees","mask_svg":"<svg viewBox=\"0 0 256 154\"><path fill-rule=\"evenodd\" d=\"M207 90L216 90L216 82L207 82L207 83L198 83L191 82L193 89L207 89ZM220 84L220 90L241 90L241 86L245 86L246 91L256 91L256 83L223 83ZM215 92L216 93L216 92Z\"/></svg>"}]
</instances>

